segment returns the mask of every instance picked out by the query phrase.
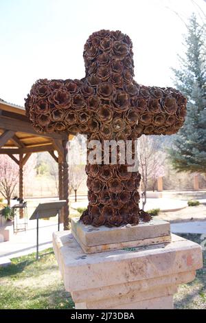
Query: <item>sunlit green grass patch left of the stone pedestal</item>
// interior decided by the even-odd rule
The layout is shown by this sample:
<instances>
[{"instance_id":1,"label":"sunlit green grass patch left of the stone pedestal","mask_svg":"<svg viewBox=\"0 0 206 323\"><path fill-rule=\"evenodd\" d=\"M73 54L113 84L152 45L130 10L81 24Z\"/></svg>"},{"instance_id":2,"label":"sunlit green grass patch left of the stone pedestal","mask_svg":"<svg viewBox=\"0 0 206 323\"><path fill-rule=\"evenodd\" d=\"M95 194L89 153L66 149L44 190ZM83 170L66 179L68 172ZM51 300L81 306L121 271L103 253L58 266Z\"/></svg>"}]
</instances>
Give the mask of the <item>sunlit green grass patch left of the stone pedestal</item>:
<instances>
[{"instance_id":1,"label":"sunlit green grass patch left of the stone pedestal","mask_svg":"<svg viewBox=\"0 0 206 323\"><path fill-rule=\"evenodd\" d=\"M73 301L65 291L54 252L47 249L12 259L0 267L0 309L72 309Z\"/></svg>"}]
</instances>

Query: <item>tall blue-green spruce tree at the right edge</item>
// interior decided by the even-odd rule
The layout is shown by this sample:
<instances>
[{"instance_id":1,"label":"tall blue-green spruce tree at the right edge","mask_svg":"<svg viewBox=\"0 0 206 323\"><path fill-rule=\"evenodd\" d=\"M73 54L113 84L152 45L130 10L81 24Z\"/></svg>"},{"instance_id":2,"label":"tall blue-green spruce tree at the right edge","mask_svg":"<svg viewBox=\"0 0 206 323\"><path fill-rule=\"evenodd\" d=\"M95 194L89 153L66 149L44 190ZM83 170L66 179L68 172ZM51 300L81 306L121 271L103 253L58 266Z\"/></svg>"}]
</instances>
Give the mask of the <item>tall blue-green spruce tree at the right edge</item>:
<instances>
[{"instance_id":1,"label":"tall blue-green spruce tree at the right edge","mask_svg":"<svg viewBox=\"0 0 206 323\"><path fill-rule=\"evenodd\" d=\"M187 96L187 117L174 137L170 160L178 171L206 173L206 51L205 26L193 14L187 26L185 57L174 71L175 85Z\"/></svg>"}]
</instances>

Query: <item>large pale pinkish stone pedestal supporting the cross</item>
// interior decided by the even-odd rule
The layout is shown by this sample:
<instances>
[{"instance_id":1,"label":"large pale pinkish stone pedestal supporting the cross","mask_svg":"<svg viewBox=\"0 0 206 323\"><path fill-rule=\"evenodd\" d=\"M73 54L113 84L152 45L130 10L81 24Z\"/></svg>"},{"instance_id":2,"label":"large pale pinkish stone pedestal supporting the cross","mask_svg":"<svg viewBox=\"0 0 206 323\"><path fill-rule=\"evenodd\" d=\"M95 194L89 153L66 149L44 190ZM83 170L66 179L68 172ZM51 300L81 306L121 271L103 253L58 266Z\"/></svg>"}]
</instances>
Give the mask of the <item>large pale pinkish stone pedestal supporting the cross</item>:
<instances>
[{"instance_id":1,"label":"large pale pinkish stone pedestal supporting the cross","mask_svg":"<svg viewBox=\"0 0 206 323\"><path fill-rule=\"evenodd\" d=\"M162 234L160 239L168 236L167 223L157 225L156 229L154 223L145 225L149 226L153 227L148 230L148 234L153 231L152 238L157 238L158 227ZM172 309L178 285L192 281L196 269L203 265L201 247L173 234L172 241L140 247L138 241L146 239L142 232L147 230L142 230L144 225L141 230L137 227L113 230L99 227L95 230L90 226L81 228L74 221L73 232L78 241L84 241L84 246L93 244L89 247L95 247L89 249L89 254L83 252L70 231L54 233L56 259L65 289L71 293L76 309ZM106 230L106 242L109 243L105 250L102 246ZM96 247L98 235L100 241L103 240ZM125 246L124 243L130 242L126 241L126 236L137 246Z\"/></svg>"}]
</instances>

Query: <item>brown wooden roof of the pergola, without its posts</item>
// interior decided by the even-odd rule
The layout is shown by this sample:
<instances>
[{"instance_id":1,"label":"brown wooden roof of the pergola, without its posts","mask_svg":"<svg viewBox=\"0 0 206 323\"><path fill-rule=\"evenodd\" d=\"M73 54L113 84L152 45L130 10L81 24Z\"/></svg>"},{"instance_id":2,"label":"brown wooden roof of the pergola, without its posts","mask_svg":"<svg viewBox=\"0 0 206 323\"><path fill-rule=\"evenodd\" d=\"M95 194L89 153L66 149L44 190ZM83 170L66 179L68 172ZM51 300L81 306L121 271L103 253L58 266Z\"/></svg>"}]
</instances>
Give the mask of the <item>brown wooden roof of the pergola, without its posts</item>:
<instances>
[{"instance_id":1,"label":"brown wooden roof of the pergola, without its posts","mask_svg":"<svg viewBox=\"0 0 206 323\"><path fill-rule=\"evenodd\" d=\"M67 133L39 135L32 128L25 108L0 99L0 153L36 153L61 151Z\"/></svg>"}]
</instances>

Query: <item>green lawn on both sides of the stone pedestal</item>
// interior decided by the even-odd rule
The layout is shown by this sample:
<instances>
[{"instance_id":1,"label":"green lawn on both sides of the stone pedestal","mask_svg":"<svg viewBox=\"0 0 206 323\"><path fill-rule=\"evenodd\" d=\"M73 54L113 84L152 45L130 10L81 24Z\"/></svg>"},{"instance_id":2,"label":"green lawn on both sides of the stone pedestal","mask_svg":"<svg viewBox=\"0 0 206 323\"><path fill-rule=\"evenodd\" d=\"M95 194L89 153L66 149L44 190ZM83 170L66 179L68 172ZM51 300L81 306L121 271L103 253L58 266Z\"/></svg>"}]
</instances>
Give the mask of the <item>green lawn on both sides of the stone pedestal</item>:
<instances>
[{"instance_id":1,"label":"green lawn on both sides of the stone pedestal","mask_svg":"<svg viewBox=\"0 0 206 323\"><path fill-rule=\"evenodd\" d=\"M182 234L184 238L201 243L201 234ZM174 296L175 309L206 308L206 251L204 267L196 279L179 287ZM0 267L0 309L73 309L74 304L65 291L54 252L47 249L36 254L12 259L12 265Z\"/></svg>"}]
</instances>

